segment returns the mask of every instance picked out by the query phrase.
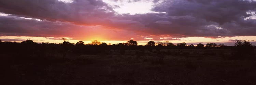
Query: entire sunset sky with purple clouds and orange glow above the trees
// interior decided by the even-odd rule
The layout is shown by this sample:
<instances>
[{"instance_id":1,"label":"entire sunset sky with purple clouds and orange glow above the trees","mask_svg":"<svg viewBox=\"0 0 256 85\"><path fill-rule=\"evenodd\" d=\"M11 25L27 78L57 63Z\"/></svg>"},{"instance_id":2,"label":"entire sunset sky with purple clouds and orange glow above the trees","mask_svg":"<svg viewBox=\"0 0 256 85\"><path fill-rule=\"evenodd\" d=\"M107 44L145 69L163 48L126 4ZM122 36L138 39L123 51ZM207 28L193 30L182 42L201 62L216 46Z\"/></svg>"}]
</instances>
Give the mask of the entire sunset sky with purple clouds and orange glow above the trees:
<instances>
[{"instance_id":1,"label":"entire sunset sky with purple clouds and orange glow above the trees","mask_svg":"<svg viewBox=\"0 0 256 85\"><path fill-rule=\"evenodd\" d=\"M255 0L0 0L0 38L256 45L255 11Z\"/></svg>"}]
</instances>

